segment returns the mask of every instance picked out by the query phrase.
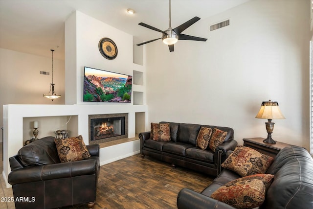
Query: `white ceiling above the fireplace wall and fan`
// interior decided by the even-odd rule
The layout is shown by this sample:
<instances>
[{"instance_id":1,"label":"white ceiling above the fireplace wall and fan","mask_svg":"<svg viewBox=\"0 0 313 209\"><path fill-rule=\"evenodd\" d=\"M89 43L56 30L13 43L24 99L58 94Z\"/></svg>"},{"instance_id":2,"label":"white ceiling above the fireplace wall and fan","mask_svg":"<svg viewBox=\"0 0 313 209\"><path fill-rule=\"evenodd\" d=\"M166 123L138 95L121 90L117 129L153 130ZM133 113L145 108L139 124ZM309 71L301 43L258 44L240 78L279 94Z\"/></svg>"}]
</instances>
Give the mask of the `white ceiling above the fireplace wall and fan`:
<instances>
[{"instance_id":1,"label":"white ceiling above the fireplace wall and fan","mask_svg":"<svg viewBox=\"0 0 313 209\"><path fill-rule=\"evenodd\" d=\"M172 27L198 16L201 19L223 12L248 0L172 0ZM126 12L135 10L134 15ZM0 0L0 47L30 54L64 59L64 23L78 10L148 41L160 37L156 31L169 26L168 0Z\"/></svg>"}]
</instances>

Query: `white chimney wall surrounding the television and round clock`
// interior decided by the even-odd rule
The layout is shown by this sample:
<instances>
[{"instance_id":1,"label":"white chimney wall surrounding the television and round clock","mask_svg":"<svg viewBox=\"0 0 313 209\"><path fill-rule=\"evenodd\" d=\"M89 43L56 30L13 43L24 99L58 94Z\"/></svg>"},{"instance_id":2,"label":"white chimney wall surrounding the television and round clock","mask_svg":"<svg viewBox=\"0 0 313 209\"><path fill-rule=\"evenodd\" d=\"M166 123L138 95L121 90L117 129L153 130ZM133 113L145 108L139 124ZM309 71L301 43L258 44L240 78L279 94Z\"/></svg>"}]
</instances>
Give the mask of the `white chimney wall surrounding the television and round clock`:
<instances>
[{"instance_id":1,"label":"white chimney wall surrounding the television and round clock","mask_svg":"<svg viewBox=\"0 0 313 209\"><path fill-rule=\"evenodd\" d=\"M113 60L104 58L98 49L99 41L104 37L111 38L117 46L118 54ZM75 40L76 46L70 43L73 42L72 40ZM66 84L72 86L66 89L67 104L108 105L101 102L83 102L85 66L127 75L133 75L133 70L135 70L133 64L133 36L79 11L75 11L66 21L66 57L72 59L66 59L66 78L68 80L74 79L73 82L76 83L76 85L71 85L71 82ZM73 86L76 88L73 88Z\"/></svg>"}]
</instances>

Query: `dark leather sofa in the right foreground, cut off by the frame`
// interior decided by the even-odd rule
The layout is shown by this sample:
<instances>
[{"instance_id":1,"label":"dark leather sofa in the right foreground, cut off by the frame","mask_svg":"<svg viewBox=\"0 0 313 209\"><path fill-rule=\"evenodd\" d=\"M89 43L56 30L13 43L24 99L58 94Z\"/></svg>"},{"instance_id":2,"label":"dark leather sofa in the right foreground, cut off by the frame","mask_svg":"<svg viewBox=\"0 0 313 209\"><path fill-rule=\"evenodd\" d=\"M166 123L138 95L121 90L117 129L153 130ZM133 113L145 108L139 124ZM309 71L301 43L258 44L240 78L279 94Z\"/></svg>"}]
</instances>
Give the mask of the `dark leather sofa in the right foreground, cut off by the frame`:
<instances>
[{"instance_id":1,"label":"dark leather sofa in the right foreground, cut off by the frame","mask_svg":"<svg viewBox=\"0 0 313 209\"><path fill-rule=\"evenodd\" d=\"M259 209L313 209L313 159L302 147L282 149L268 168L274 180L268 187L265 201ZM220 186L241 178L237 173L223 169L213 183L201 193L188 188L179 191L178 209L235 209L211 194Z\"/></svg>"}]
</instances>

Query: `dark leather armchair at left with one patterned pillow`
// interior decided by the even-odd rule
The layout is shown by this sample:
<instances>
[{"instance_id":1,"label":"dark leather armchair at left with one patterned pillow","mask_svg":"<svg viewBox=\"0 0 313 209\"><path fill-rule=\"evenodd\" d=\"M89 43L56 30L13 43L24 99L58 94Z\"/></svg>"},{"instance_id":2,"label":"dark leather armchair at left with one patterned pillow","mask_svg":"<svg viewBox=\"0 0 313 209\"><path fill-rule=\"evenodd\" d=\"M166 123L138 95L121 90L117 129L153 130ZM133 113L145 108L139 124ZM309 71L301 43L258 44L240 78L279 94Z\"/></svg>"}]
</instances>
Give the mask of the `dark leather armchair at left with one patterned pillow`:
<instances>
[{"instance_id":1,"label":"dark leather armchair at left with one patterned pillow","mask_svg":"<svg viewBox=\"0 0 313 209\"><path fill-rule=\"evenodd\" d=\"M60 163L54 137L22 147L9 158L16 209L52 209L88 203L93 208L99 176L99 145L87 145L91 157ZM34 164L35 163L35 164Z\"/></svg>"}]
</instances>

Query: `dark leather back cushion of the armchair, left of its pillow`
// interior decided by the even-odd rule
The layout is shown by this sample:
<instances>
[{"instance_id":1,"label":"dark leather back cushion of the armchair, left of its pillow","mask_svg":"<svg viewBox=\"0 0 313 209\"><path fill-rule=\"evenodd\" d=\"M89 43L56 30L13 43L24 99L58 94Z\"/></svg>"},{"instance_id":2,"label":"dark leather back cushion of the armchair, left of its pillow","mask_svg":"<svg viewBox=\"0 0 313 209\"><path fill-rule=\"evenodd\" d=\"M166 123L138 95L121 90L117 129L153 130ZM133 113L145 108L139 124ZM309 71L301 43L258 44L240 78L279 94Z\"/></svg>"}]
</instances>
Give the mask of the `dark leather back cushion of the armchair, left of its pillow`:
<instances>
[{"instance_id":1,"label":"dark leather back cushion of the armchair, left of its pillow","mask_svg":"<svg viewBox=\"0 0 313 209\"><path fill-rule=\"evenodd\" d=\"M23 166L47 165L60 163L54 137L37 139L18 151Z\"/></svg>"}]
</instances>

